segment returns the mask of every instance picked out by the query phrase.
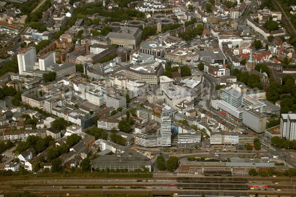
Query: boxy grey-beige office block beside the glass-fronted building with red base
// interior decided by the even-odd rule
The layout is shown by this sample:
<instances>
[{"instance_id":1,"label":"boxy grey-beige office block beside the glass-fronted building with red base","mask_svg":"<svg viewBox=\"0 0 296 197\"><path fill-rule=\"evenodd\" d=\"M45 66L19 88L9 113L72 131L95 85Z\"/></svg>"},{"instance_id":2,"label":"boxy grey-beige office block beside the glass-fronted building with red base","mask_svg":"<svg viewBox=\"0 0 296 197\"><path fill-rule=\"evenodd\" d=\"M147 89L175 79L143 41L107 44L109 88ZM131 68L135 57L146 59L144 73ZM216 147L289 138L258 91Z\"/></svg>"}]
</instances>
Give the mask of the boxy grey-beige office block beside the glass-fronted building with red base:
<instances>
[{"instance_id":1,"label":"boxy grey-beige office block beside the glass-fronted building with red base","mask_svg":"<svg viewBox=\"0 0 296 197\"><path fill-rule=\"evenodd\" d=\"M245 108L242 113L242 123L258 134L264 133L266 129L266 115L259 112L259 110Z\"/></svg>"}]
</instances>

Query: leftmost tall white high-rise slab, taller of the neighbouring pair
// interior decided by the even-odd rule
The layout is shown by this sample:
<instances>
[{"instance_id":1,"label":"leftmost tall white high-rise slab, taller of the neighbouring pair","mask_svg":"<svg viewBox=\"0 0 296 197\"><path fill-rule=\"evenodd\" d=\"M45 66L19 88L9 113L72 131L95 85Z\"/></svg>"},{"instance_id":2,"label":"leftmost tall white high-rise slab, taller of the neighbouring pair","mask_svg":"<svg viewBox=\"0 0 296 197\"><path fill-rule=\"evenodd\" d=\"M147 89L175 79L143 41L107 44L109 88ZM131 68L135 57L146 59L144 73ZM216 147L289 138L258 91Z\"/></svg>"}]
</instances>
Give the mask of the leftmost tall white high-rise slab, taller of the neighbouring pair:
<instances>
[{"instance_id":1,"label":"leftmost tall white high-rise slab, taller of the neighbouring pair","mask_svg":"<svg viewBox=\"0 0 296 197\"><path fill-rule=\"evenodd\" d=\"M33 71L36 59L35 47L28 47L25 50L20 50L19 54L17 54L20 75L23 74L23 71Z\"/></svg>"}]
</instances>

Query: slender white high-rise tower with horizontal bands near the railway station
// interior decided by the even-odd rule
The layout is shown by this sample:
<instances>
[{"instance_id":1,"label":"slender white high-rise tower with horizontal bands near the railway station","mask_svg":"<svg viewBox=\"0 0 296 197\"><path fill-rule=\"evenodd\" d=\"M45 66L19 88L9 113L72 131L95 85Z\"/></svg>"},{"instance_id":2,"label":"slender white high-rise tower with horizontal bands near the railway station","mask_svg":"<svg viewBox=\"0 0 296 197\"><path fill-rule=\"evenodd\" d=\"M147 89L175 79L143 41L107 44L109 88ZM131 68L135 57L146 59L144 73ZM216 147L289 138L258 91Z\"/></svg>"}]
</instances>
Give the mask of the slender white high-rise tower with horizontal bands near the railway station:
<instances>
[{"instance_id":1,"label":"slender white high-rise tower with horizontal bands near the railway station","mask_svg":"<svg viewBox=\"0 0 296 197\"><path fill-rule=\"evenodd\" d=\"M163 147L170 146L171 142L171 121L170 121L170 115L168 113L162 113L161 114L161 136L162 136L162 143Z\"/></svg>"}]
</instances>

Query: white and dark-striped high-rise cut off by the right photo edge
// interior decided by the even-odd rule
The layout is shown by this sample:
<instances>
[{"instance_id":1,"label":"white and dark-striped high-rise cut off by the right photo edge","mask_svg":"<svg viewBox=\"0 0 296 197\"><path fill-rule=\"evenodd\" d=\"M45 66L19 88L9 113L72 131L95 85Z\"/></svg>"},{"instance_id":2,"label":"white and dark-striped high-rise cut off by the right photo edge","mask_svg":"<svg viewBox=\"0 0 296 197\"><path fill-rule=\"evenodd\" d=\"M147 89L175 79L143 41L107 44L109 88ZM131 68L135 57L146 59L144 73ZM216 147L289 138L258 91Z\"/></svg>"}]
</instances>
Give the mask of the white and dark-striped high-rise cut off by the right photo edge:
<instances>
[{"instance_id":1,"label":"white and dark-striped high-rise cut off by the right photo edge","mask_svg":"<svg viewBox=\"0 0 296 197\"><path fill-rule=\"evenodd\" d=\"M281 114L280 132L282 138L296 140L296 114Z\"/></svg>"}]
</instances>

